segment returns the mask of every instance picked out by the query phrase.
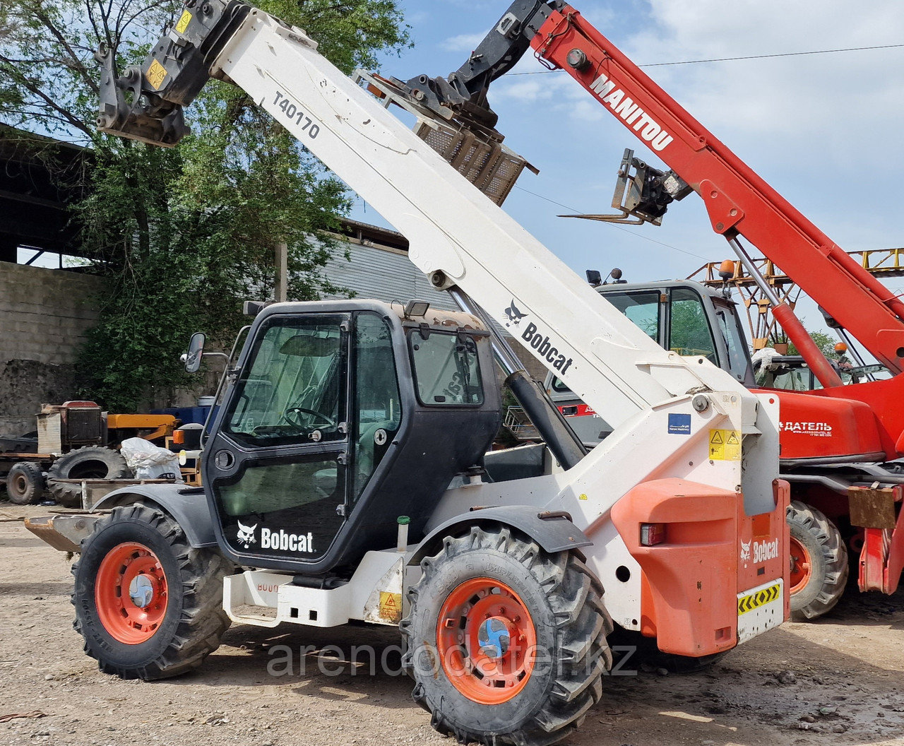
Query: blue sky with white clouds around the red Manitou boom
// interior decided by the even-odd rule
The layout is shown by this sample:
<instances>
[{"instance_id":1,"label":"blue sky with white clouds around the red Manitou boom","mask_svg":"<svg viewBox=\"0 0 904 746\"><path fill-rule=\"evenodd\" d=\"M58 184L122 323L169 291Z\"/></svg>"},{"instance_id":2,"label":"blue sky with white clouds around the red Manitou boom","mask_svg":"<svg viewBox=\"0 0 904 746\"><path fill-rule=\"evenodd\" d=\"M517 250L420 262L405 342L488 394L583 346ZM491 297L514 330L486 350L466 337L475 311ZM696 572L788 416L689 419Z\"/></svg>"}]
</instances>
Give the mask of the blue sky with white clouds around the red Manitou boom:
<instances>
[{"instance_id":1,"label":"blue sky with white clouds around the red Manitou boom","mask_svg":"<svg viewBox=\"0 0 904 746\"><path fill-rule=\"evenodd\" d=\"M446 76L466 60L507 0L402 0L415 42L387 55L384 75ZM598 30L845 250L904 245L904 4L871 0L575 0ZM757 56L693 64L662 63ZM490 89L505 143L540 169L525 171L504 209L581 279L623 270L628 281L678 279L731 257L695 194L661 227L556 217L609 212L626 147L663 167L578 83L546 73L528 53ZM539 196L538 196L539 195ZM558 204L556 204L558 203ZM564 207L563 207L564 206ZM387 224L364 203L353 217ZM759 256L757 250L751 250ZM904 292L904 278L890 280ZM803 303L805 326L822 329Z\"/></svg>"}]
</instances>

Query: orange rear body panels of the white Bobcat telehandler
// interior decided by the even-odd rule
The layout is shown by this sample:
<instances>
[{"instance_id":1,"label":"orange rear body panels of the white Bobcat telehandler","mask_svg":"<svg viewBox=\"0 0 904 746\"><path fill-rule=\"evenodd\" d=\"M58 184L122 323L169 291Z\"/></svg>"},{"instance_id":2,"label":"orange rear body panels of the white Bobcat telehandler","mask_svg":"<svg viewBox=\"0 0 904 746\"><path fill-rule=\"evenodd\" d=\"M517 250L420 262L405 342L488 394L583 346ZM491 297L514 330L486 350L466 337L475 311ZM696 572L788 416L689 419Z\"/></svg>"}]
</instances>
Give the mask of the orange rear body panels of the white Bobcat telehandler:
<instances>
[{"instance_id":1,"label":"orange rear body panels of the white Bobcat telehandler","mask_svg":"<svg viewBox=\"0 0 904 746\"><path fill-rule=\"evenodd\" d=\"M785 580L785 618L790 607L785 520L790 489L774 483L776 508L748 516L744 496L675 477L636 486L612 507L612 521L644 572L642 632L659 649L708 656L738 642L738 594L769 579ZM666 524L666 541L640 543L641 524ZM740 543L779 540L778 556L741 564Z\"/></svg>"}]
</instances>

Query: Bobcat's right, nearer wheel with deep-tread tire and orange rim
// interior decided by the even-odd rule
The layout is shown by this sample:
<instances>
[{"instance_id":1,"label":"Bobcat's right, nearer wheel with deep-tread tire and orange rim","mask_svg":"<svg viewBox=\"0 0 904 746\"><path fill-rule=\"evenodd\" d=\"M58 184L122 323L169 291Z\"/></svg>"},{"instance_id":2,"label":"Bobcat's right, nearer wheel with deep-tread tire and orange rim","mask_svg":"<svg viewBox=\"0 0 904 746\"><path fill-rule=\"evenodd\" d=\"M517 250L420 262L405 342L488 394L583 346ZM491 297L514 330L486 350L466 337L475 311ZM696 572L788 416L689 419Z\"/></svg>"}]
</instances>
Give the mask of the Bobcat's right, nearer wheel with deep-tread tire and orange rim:
<instances>
[{"instance_id":1,"label":"Bobcat's right, nearer wheel with deep-tread tire and orange rim","mask_svg":"<svg viewBox=\"0 0 904 746\"><path fill-rule=\"evenodd\" d=\"M612 620L602 585L579 552L548 553L507 527L475 526L468 534L447 536L421 569L423 576L409 590L410 615L401 623L403 663L415 679L412 697L431 713L432 726L461 743L487 746L544 746L574 732L598 703L602 677L612 666L606 639ZM467 598L473 583L488 590L466 600L460 607L464 616L458 616L453 600L461 589ZM504 657L478 673L487 658L476 634L491 621L481 604L494 599L510 609L512 619L503 620L510 637L523 639L523 628L530 628L527 639L537 655L523 675L515 672L521 679L501 680ZM505 608L494 603L504 616ZM458 648L447 647L450 629ZM464 668L450 673L444 661L453 660ZM505 694L506 687L514 694Z\"/></svg>"}]
</instances>

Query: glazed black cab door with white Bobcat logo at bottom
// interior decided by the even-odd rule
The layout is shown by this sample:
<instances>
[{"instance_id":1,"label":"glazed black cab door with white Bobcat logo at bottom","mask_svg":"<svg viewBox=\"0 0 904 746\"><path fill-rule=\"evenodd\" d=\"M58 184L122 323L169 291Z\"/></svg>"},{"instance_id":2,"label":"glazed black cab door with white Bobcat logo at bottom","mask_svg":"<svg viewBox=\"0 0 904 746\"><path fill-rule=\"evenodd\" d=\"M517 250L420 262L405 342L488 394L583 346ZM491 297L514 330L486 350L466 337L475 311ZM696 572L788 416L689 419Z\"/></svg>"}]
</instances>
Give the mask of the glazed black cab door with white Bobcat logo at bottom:
<instances>
[{"instance_id":1,"label":"glazed black cab door with white Bobcat logo at bottom","mask_svg":"<svg viewBox=\"0 0 904 746\"><path fill-rule=\"evenodd\" d=\"M221 540L240 557L316 562L348 506L350 315L269 316L204 450Z\"/></svg>"}]
</instances>

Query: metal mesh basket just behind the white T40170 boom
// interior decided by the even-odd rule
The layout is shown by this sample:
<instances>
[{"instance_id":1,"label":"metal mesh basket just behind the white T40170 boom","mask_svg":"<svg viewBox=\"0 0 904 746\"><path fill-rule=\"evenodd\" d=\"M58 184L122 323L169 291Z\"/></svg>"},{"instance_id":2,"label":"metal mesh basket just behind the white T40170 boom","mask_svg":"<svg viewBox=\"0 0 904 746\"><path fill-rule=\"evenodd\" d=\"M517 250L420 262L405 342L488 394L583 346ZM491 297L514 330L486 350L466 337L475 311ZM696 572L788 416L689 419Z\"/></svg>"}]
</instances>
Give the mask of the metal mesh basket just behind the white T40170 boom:
<instances>
[{"instance_id":1,"label":"metal mesh basket just behind the white T40170 boom","mask_svg":"<svg viewBox=\"0 0 904 746\"><path fill-rule=\"evenodd\" d=\"M502 204L527 161L502 143L487 141L467 129L418 121L415 134L496 204Z\"/></svg>"}]
</instances>

